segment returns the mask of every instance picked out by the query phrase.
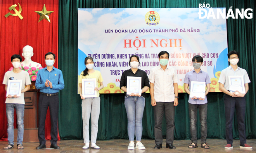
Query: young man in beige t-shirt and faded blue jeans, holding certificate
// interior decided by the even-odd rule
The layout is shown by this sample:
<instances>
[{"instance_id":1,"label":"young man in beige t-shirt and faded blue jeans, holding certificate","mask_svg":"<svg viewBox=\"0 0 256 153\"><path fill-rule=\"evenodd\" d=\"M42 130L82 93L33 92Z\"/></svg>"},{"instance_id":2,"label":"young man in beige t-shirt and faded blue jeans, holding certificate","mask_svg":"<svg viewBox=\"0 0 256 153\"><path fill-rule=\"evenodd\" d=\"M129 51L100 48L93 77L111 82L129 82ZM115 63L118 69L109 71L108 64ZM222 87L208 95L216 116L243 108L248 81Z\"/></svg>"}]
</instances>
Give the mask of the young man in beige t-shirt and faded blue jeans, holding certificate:
<instances>
[{"instance_id":1,"label":"young man in beige t-shirt and faded blue jeans, holding certificate","mask_svg":"<svg viewBox=\"0 0 256 153\"><path fill-rule=\"evenodd\" d=\"M6 115L8 121L8 144L3 148L5 150L14 148L14 108L16 109L17 114L17 125L18 125L18 136L17 136L17 149L23 149L22 141L23 141L23 133L24 133L24 92L30 89L30 77L28 72L21 70L19 65L21 64L21 56L20 55L12 55L11 57L13 70L5 73L3 78L3 84L5 84L5 90L7 91L7 85L9 80L22 80L21 86L21 96L17 95L8 95L6 97ZM25 88L26 86L26 88Z\"/></svg>"}]
</instances>

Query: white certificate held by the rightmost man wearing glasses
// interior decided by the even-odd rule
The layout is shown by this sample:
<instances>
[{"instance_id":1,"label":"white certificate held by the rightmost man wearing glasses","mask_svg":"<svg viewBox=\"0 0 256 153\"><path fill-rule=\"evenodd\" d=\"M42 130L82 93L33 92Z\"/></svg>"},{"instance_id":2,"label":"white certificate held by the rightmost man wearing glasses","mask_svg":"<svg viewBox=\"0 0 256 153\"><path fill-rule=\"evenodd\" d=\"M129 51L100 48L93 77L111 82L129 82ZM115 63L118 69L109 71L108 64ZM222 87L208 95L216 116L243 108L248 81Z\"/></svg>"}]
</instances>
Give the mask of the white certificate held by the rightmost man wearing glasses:
<instances>
[{"instance_id":1,"label":"white certificate held by the rightmost man wearing glasses","mask_svg":"<svg viewBox=\"0 0 256 153\"><path fill-rule=\"evenodd\" d=\"M228 76L228 81L229 81L230 93L239 91L240 93L245 94L244 77L243 76Z\"/></svg>"}]
</instances>

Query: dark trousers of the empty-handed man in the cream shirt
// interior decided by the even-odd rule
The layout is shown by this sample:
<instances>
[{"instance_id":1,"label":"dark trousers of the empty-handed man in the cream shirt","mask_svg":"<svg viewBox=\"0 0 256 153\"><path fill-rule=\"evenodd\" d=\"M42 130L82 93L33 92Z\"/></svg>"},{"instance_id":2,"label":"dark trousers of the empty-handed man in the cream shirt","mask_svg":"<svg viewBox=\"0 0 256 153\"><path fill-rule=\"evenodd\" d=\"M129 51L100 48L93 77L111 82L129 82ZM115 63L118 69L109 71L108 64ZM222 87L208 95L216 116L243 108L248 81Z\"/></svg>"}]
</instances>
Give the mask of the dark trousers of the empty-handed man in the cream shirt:
<instances>
[{"instance_id":1,"label":"dark trousers of the empty-handed man in the cream shirt","mask_svg":"<svg viewBox=\"0 0 256 153\"><path fill-rule=\"evenodd\" d=\"M156 102L154 108L154 118L155 118L155 143L163 143L163 133L162 133L162 121L164 117L166 118L166 143L173 143L174 139L174 115L175 115L175 106L173 102Z\"/></svg>"}]
</instances>

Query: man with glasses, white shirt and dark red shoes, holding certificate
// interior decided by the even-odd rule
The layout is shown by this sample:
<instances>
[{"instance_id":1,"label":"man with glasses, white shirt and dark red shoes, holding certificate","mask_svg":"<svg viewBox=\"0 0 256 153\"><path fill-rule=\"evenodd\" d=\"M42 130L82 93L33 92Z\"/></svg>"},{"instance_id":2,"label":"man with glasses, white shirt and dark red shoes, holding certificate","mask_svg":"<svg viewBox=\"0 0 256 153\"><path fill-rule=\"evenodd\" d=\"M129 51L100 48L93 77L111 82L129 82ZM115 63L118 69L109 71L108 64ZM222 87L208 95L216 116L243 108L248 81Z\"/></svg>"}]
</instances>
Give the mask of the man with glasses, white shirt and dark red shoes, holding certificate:
<instances>
[{"instance_id":1,"label":"man with glasses, white shirt and dark red shoes, holding certificate","mask_svg":"<svg viewBox=\"0 0 256 153\"><path fill-rule=\"evenodd\" d=\"M237 122L238 122L238 131L240 138L240 148L252 149L253 147L246 144L246 129L245 129L245 111L246 111L246 98L245 95L249 90L250 79L245 69L242 69L237 66L239 61L238 52L231 51L228 53L228 62L230 66L221 71L219 78L219 89L225 93L224 94L224 105L225 105L225 118L226 118L226 139L227 145L225 149L233 148L233 131L232 124L234 118L234 112L237 113ZM229 80L228 76L243 76L245 94L240 93L239 91L230 92L229 91Z\"/></svg>"}]
</instances>

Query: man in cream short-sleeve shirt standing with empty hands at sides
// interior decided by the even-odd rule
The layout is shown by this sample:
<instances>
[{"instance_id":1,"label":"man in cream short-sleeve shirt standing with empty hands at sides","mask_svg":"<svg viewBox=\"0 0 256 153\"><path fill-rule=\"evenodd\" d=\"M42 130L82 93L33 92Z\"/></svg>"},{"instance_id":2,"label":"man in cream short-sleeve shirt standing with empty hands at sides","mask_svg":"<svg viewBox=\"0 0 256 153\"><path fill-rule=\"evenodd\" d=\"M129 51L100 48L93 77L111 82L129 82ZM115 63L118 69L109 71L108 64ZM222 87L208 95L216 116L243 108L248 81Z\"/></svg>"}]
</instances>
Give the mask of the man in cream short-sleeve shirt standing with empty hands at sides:
<instances>
[{"instance_id":1,"label":"man in cream short-sleeve shirt standing with empty hands at sides","mask_svg":"<svg viewBox=\"0 0 256 153\"><path fill-rule=\"evenodd\" d=\"M162 148L162 120L166 118L166 148L175 149L174 115L178 105L178 77L176 70L168 66L169 53L162 51L158 54L160 65L151 69L149 75L151 105L154 108L155 118L155 149Z\"/></svg>"}]
</instances>

